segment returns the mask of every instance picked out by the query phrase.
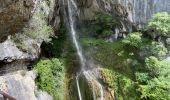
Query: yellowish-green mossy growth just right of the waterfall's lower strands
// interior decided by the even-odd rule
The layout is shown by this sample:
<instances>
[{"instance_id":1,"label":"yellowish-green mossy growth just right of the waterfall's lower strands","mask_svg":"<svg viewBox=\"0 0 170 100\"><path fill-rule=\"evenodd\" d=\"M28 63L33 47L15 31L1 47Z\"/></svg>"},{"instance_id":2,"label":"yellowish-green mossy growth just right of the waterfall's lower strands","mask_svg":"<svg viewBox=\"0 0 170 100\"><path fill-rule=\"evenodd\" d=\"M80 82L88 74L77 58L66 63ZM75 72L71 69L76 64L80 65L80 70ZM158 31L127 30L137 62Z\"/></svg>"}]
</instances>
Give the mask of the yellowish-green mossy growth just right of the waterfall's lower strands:
<instances>
[{"instance_id":1,"label":"yellowish-green mossy growth just right of the waterfall's lower strands","mask_svg":"<svg viewBox=\"0 0 170 100\"><path fill-rule=\"evenodd\" d=\"M129 78L109 69L102 69L101 74L107 87L114 90L118 100L136 100L135 84Z\"/></svg>"}]
</instances>

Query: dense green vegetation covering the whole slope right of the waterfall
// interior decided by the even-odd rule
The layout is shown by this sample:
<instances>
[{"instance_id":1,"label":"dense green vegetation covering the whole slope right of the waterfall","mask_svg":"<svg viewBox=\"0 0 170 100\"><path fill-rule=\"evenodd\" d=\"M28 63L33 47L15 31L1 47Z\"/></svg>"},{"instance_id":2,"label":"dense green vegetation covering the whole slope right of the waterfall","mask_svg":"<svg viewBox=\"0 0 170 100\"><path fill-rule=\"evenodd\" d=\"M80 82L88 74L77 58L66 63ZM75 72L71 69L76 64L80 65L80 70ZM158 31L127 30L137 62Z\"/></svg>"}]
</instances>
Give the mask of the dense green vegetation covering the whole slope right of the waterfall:
<instances>
[{"instance_id":1,"label":"dense green vegetation covering the whole slope right of the waterfall","mask_svg":"<svg viewBox=\"0 0 170 100\"><path fill-rule=\"evenodd\" d=\"M103 19L105 24L100 24L107 25L106 19ZM153 34L168 38L169 20L165 12L155 14L144 29L147 32L152 29L154 33L133 32L113 43L102 38L103 35L107 37L107 34L98 34L102 35L98 36L100 38L82 39L84 48L94 49L92 53L95 60L104 67L103 81L115 91L118 100L170 99L170 62L163 60L168 55L166 43L155 41L156 37L149 38ZM108 29L103 26L101 29L110 31L111 27Z\"/></svg>"}]
</instances>

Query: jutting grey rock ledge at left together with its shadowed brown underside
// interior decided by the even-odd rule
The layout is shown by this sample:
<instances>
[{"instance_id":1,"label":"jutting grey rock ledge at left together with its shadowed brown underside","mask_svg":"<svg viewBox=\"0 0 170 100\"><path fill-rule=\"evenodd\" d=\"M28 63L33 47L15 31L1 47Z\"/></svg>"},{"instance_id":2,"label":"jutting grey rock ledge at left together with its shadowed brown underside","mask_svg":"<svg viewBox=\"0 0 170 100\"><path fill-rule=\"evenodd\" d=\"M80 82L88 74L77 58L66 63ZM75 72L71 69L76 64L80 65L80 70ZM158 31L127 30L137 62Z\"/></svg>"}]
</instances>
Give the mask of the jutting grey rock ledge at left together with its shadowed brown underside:
<instances>
[{"instance_id":1,"label":"jutting grey rock ledge at left together with its shadowed brown underside","mask_svg":"<svg viewBox=\"0 0 170 100\"><path fill-rule=\"evenodd\" d=\"M26 51L19 49L11 39L0 44L0 76L27 68L32 69L30 62L39 58L40 44L26 38L22 45Z\"/></svg>"}]
</instances>

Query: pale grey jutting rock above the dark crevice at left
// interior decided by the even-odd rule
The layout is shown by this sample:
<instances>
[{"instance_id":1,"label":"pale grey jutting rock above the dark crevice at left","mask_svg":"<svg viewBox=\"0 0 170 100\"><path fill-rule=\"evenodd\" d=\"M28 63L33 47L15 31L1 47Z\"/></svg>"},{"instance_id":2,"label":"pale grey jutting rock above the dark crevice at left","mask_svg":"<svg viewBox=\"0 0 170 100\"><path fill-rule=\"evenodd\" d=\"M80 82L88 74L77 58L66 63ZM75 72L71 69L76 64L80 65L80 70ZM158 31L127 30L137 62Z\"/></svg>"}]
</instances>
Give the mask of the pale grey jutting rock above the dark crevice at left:
<instances>
[{"instance_id":1,"label":"pale grey jutting rock above the dark crevice at left","mask_svg":"<svg viewBox=\"0 0 170 100\"><path fill-rule=\"evenodd\" d=\"M0 44L0 61L12 62L14 60L34 60L40 53L40 44L33 39L26 39L23 46L29 48L29 52L23 52L17 48L11 39Z\"/></svg>"}]
</instances>

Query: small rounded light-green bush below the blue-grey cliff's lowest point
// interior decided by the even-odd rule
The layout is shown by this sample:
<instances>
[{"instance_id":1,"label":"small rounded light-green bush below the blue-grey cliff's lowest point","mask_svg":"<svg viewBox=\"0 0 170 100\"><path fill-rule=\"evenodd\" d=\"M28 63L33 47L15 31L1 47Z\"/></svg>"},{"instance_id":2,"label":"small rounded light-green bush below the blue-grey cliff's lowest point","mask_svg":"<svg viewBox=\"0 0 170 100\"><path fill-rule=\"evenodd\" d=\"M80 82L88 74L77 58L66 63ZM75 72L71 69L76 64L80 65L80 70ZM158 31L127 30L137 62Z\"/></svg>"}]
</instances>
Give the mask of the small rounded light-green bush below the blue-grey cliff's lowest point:
<instances>
[{"instance_id":1,"label":"small rounded light-green bush below the blue-grey cliff's lowest point","mask_svg":"<svg viewBox=\"0 0 170 100\"><path fill-rule=\"evenodd\" d=\"M142 34L139 32L130 33L127 37L122 41L126 45L140 47L142 44Z\"/></svg>"}]
</instances>

